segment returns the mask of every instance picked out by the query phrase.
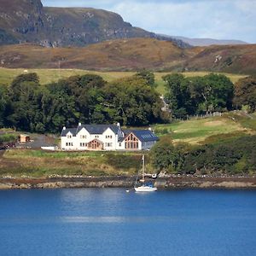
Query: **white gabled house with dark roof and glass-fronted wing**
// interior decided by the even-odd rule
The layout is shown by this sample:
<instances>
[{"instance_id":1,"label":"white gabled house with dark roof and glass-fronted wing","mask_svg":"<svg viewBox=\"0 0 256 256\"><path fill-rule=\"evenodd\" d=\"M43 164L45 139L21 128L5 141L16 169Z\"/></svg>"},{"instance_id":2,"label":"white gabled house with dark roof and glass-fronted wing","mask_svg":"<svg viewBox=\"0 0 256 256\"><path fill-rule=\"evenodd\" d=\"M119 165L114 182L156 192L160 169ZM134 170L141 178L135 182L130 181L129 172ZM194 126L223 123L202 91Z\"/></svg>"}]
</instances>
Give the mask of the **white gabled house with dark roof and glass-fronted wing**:
<instances>
[{"instance_id":1,"label":"white gabled house with dark roof and glass-fronted wing","mask_svg":"<svg viewBox=\"0 0 256 256\"><path fill-rule=\"evenodd\" d=\"M159 140L151 130L122 130L117 125L63 127L62 150L143 150Z\"/></svg>"}]
</instances>

